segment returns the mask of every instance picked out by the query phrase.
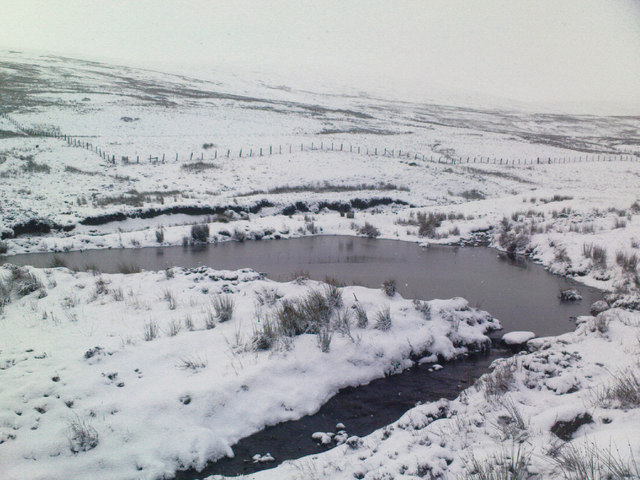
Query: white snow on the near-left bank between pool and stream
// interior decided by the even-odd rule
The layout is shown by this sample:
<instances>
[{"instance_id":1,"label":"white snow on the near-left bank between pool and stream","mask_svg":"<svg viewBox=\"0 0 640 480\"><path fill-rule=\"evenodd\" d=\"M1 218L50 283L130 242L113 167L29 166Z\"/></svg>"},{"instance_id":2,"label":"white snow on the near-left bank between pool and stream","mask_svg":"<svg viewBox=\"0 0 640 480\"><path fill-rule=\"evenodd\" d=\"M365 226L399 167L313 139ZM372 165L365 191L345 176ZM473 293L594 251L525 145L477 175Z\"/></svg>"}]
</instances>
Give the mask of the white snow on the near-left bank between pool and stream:
<instances>
[{"instance_id":1,"label":"white snow on the near-left bank between pool and stream","mask_svg":"<svg viewBox=\"0 0 640 480\"><path fill-rule=\"evenodd\" d=\"M11 278L27 273L41 286L21 296ZM389 305L390 330L358 328L352 318L328 353L313 334L256 351L251 339L278 305L323 285L205 267L94 276L4 266L0 277L11 292L0 319L7 479L157 478L202 468L266 425L314 413L341 388L409 368L414 354L453 359L482 348L500 325L461 298L431 301L426 319L399 295L345 287L347 312L356 297L371 318ZM260 304L265 291L282 297ZM208 329L220 294L235 302L233 316ZM151 325L156 336L146 338ZM72 440L74 422L96 432L95 446ZM332 440L347 438L341 429Z\"/></svg>"}]
</instances>

